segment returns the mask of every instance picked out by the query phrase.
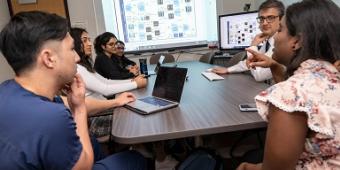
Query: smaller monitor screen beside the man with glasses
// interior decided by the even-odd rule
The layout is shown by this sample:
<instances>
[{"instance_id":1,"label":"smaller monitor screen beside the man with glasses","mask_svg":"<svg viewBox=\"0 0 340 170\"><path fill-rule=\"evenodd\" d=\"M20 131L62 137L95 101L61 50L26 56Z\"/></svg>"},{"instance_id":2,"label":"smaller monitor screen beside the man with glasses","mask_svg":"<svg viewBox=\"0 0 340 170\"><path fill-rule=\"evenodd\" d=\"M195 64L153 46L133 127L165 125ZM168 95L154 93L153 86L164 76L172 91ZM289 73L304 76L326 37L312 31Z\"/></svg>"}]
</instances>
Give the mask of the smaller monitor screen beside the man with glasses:
<instances>
[{"instance_id":1,"label":"smaller monitor screen beside the man with glasses","mask_svg":"<svg viewBox=\"0 0 340 170\"><path fill-rule=\"evenodd\" d=\"M236 50L249 47L256 34L260 33L256 21L257 11L219 16L220 50Z\"/></svg>"}]
</instances>

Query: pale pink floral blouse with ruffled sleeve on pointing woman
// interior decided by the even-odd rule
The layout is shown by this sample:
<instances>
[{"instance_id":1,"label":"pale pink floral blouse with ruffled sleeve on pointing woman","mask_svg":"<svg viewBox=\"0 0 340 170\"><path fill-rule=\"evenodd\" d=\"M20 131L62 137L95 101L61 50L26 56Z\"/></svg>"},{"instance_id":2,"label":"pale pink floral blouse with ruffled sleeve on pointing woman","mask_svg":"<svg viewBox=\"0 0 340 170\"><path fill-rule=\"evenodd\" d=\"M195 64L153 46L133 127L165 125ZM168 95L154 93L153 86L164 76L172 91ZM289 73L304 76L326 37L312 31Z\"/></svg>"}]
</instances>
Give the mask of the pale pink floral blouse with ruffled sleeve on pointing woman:
<instances>
[{"instance_id":1,"label":"pale pink floral blouse with ruffled sleeve on pointing woman","mask_svg":"<svg viewBox=\"0 0 340 170\"><path fill-rule=\"evenodd\" d=\"M269 103L307 114L315 135L306 138L296 169L340 169L340 73L331 63L307 60L288 80L262 91L255 100L266 121Z\"/></svg>"}]
</instances>

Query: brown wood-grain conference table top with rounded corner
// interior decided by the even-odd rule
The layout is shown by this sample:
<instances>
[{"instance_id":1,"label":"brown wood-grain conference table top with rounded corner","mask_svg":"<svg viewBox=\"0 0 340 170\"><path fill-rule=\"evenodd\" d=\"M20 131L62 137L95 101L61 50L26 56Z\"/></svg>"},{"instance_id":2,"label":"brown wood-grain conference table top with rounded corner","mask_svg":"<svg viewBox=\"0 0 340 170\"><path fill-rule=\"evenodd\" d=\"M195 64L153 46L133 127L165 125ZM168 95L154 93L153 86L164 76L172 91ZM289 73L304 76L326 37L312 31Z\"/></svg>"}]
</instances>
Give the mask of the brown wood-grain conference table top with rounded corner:
<instances>
[{"instance_id":1,"label":"brown wood-grain conference table top with rounded corner","mask_svg":"<svg viewBox=\"0 0 340 170\"><path fill-rule=\"evenodd\" d=\"M201 72L213 65L198 61L176 65L188 68L179 106L149 115L116 108L112 120L115 142L137 144L266 126L256 112L241 112L238 105L254 103L255 95L266 89L267 84L256 82L249 74L229 74L223 76L224 80L209 81ZM155 78L150 76L146 88L132 92L137 98L151 95Z\"/></svg>"}]
</instances>

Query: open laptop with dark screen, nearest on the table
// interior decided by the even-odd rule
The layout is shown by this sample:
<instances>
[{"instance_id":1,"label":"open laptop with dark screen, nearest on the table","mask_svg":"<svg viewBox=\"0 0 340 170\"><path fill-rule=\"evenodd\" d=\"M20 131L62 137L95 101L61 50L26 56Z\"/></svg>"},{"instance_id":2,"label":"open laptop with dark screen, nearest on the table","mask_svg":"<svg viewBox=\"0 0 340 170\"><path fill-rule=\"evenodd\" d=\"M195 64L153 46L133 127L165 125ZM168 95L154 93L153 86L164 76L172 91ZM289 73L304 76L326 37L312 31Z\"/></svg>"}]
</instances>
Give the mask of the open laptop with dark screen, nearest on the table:
<instances>
[{"instance_id":1,"label":"open laptop with dark screen, nearest on the table","mask_svg":"<svg viewBox=\"0 0 340 170\"><path fill-rule=\"evenodd\" d=\"M152 96L139 98L124 107L140 114L150 114L178 106L187 70L179 67L159 67Z\"/></svg>"}]
</instances>

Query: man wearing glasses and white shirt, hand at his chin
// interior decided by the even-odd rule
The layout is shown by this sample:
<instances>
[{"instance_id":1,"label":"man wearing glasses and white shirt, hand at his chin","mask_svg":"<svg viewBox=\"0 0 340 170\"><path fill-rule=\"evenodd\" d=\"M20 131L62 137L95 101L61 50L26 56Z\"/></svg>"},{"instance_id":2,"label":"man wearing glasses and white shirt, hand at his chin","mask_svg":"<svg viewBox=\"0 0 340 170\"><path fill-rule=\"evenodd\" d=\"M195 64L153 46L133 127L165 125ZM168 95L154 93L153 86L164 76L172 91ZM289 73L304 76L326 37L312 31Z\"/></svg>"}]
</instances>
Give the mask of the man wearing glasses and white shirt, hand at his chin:
<instances>
[{"instance_id":1,"label":"man wearing glasses and white shirt, hand at his chin","mask_svg":"<svg viewBox=\"0 0 340 170\"><path fill-rule=\"evenodd\" d=\"M274 34L279 29L279 24L282 16L284 15L285 7L281 1L267 0L259 7L259 15L257 22L260 24L261 33L255 36L251 43L254 50L264 53L266 56L272 56L274 47ZM262 46L259 48L259 46ZM240 73L248 71L246 61L240 61L231 67L216 67L213 72L218 74ZM251 74L256 81L264 81L272 78L272 73L269 68L250 69Z\"/></svg>"}]
</instances>

